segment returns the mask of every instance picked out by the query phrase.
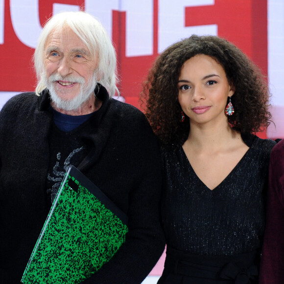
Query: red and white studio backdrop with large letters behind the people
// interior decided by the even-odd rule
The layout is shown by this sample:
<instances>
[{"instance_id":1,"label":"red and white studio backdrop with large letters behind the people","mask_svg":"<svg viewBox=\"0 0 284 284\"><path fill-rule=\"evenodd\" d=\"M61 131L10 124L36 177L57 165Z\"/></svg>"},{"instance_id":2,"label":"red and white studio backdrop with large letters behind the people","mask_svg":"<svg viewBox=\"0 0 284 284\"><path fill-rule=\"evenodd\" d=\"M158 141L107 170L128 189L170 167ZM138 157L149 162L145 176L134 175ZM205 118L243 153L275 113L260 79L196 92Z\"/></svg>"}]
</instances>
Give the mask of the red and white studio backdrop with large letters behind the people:
<instances>
[{"instance_id":1,"label":"red and white studio backdrop with large letters behind the people","mask_svg":"<svg viewBox=\"0 0 284 284\"><path fill-rule=\"evenodd\" d=\"M140 107L142 81L159 53L198 35L218 35L240 47L267 75L271 124L261 138L284 138L283 0L0 0L0 108L34 91L32 55L43 24L60 11L84 10L106 28L117 51L120 99ZM162 256L146 284L157 282Z\"/></svg>"}]
</instances>

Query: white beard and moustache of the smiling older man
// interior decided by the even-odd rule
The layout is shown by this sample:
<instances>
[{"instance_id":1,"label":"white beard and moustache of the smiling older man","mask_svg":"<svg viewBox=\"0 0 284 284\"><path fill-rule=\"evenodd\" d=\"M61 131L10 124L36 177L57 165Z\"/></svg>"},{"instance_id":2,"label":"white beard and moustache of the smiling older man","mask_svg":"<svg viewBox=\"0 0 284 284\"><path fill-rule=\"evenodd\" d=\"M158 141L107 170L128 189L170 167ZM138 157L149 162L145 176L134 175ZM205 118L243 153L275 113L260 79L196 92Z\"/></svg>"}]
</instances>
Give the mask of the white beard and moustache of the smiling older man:
<instances>
[{"instance_id":1,"label":"white beard and moustache of the smiling older man","mask_svg":"<svg viewBox=\"0 0 284 284\"><path fill-rule=\"evenodd\" d=\"M87 84L85 83L85 79L79 76L68 75L66 77L62 77L58 73L51 74L48 79L46 73L44 76L45 84L47 86L47 89L49 90L51 101L55 104L57 108L65 111L78 110L81 105L91 97L97 84L97 78L95 73ZM81 84L79 94L70 100L64 100L60 98L56 94L56 92L60 92L60 90L54 87L54 82L63 80Z\"/></svg>"}]
</instances>

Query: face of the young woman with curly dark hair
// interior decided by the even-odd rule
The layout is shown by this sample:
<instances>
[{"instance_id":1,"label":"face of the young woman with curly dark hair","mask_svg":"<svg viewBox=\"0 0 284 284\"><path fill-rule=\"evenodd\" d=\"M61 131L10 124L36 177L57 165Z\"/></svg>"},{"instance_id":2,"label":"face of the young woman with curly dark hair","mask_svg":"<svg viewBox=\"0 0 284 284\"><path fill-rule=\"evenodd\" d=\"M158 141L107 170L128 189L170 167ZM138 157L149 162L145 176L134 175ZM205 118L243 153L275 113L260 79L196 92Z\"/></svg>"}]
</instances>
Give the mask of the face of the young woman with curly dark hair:
<instances>
[{"instance_id":1,"label":"face of the young woman with curly dark hair","mask_svg":"<svg viewBox=\"0 0 284 284\"><path fill-rule=\"evenodd\" d=\"M178 80L178 100L191 123L227 119L228 96L234 94L223 67L208 55L198 54L187 60Z\"/></svg>"}]
</instances>

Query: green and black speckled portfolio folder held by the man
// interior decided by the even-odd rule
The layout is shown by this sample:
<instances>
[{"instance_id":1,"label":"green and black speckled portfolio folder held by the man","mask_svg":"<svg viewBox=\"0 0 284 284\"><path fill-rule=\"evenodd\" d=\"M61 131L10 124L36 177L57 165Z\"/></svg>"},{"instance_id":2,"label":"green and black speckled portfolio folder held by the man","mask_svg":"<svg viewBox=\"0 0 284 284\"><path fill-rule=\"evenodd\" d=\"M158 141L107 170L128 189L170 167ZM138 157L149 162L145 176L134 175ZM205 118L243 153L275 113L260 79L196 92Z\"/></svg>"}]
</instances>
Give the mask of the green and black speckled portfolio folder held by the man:
<instances>
[{"instance_id":1,"label":"green and black speckled portfolio folder held by the man","mask_svg":"<svg viewBox=\"0 0 284 284\"><path fill-rule=\"evenodd\" d=\"M76 284L125 240L127 216L70 166L25 268L24 284Z\"/></svg>"}]
</instances>

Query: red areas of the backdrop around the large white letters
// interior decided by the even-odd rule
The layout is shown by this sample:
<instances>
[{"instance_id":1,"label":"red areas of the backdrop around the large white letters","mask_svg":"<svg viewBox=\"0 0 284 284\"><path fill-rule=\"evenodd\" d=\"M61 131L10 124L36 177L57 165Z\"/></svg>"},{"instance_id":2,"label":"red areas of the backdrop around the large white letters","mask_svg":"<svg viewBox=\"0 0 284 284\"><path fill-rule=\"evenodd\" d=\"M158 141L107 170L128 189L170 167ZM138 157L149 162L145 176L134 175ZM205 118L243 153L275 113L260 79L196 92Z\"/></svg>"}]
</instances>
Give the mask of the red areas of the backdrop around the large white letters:
<instances>
[{"instance_id":1,"label":"red areas of the backdrop around the large white letters","mask_svg":"<svg viewBox=\"0 0 284 284\"><path fill-rule=\"evenodd\" d=\"M15 2L15 0L14 0ZM19 5L24 5L19 0ZM119 89L127 103L139 107L141 83L158 55L159 5L175 5L175 1L153 0L153 53L127 57L126 13L112 11L112 39L118 55ZM185 2L185 1L184 1ZM191 1L192 2L192 1ZM198 4L198 0L196 3ZM40 24L52 14L53 3L79 5L84 0L38 0ZM267 74L267 0L215 0L212 5L185 6L185 26L216 24L218 35L240 47ZM98 18L100 15L96 15ZM35 75L31 66L34 49L25 46L17 37L11 21L10 1L4 0L4 41L0 44L0 91L34 90Z\"/></svg>"}]
</instances>

